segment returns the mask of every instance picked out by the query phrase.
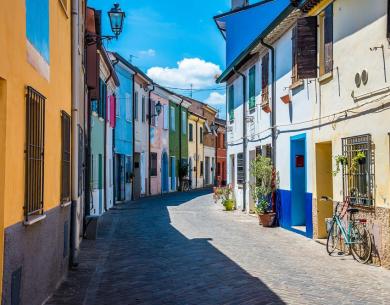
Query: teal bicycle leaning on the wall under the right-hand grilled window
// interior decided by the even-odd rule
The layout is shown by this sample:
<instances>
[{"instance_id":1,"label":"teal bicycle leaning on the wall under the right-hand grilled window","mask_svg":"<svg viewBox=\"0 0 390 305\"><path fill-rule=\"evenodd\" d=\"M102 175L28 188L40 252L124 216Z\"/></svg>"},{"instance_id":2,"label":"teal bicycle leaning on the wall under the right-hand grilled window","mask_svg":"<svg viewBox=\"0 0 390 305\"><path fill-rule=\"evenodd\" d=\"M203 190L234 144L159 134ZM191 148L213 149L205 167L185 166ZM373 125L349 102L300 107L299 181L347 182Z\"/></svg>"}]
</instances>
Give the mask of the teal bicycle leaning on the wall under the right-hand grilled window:
<instances>
[{"instance_id":1,"label":"teal bicycle leaning on the wall under the right-hand grilled window","mask_svg":"<svg viewBox=\"0 0 390 305\"><path fill-rule=\"evenodd\" d=\"M323 196L322 201L333 201L332 198ZM339 211L341 202L337 202L334 209L332 225L328 232L328 239L326 242L326 250L329 255L339 249L341 250L342 240L344 245L352 252L352 256L359 263L365 264L371 258L372 241L370 232L366 227L366 219L355 219L355 214L359 212L359 209L349 207L349 201L343 202L343 206ZM346 213L349 213L347 217L347 226L343 222L343 218ZM342 251L341 251L342 253ZM339 252L340 254L340 252Z\"/></svg>"}]
</instances>

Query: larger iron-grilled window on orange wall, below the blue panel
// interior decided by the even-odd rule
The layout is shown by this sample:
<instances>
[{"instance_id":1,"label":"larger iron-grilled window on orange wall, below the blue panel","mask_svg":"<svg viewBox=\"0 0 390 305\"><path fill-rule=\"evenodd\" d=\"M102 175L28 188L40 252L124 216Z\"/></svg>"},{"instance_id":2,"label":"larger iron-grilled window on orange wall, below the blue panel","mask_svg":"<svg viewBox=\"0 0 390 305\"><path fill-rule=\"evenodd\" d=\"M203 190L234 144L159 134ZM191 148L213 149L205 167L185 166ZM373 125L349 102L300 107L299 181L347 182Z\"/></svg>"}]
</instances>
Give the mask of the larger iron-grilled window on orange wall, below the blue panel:
<instances>
[{"instance_id":1,"label":"larger iron-grilled window on orange wall, below the blue panel","mask_svg":"<svg viewBox=\"0 0 390 305\"><path fill-rule=\"evenodd\" d=\"M45 102L38 91L27 87L26 94L26 220L43 213Z\"/></svg>"}]
</instances>

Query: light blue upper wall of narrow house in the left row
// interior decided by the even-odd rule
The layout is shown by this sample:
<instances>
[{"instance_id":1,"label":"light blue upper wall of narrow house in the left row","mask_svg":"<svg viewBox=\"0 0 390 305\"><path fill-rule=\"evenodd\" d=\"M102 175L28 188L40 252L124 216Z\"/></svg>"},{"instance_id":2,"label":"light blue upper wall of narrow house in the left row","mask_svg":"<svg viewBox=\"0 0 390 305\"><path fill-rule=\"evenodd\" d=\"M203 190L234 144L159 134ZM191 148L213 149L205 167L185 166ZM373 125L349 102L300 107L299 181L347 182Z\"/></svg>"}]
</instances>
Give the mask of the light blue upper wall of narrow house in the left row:
<instances>
[{"instance_id":1,"label":"light blue upper wall of narrow house in the left row","mask_svg":"<svg viewBox=\"0 0 390 305\"><path fill-rule=\"evenodd\" d=\"M120 116L116 117L115 153L133 156L133 75L119 64L115 66L115 71L120 82L116 97ZM130 121L126 120L126 93L130 96Z\"/></svg>"}]
</instances>

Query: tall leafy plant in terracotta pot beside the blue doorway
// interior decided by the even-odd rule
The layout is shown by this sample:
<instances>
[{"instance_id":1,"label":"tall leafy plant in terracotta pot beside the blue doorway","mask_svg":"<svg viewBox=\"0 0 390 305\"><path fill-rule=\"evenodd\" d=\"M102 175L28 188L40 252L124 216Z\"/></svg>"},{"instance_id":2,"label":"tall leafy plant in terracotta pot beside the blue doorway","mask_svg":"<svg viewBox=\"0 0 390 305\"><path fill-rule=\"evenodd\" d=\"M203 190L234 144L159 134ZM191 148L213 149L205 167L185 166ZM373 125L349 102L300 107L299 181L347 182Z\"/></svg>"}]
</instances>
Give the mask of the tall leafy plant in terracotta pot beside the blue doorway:
<instances>
[{"instance_id":1,"label":"tall leafy plant in terracotta pot beside the blue doorway","mask_svg":"<svg viewBox=\"0 0 390 305\"><path fill-rule=\"evenodd\" d=\"M250 173L255 178L250 185L253 200L256 202L255 211L259 217L259 224L271 227L275 221L276 213L272 211L270 199L277 188L277 173L271 159L258 156L252 161Z\"/></svg>"}]
</instances>

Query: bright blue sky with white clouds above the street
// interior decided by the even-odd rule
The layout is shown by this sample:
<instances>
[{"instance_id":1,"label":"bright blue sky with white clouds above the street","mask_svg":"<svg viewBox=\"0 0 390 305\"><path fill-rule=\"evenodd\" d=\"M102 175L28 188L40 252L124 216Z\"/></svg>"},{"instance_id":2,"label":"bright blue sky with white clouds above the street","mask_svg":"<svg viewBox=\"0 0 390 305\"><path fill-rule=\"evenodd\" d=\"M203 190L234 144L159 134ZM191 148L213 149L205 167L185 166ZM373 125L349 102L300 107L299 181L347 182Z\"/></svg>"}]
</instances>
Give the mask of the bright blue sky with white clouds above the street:
<instances>
[{"instance_id":1,"label":"bright blue sky with white clouds above the street","mask_svg":"<svg viewBox=\"0 0 390 305\"><path fill-rule=\"evenodd\" d=\"M89 0L103 11L103 33L111 34L107 11L113 1ZM230 0L118 0L126 13L123 33L107 48L119 52L162 85L198 89L221 87L214 74L225 68L225 42L213 16L230 9ZM183 93L183 92L181 92ZM224 90L194 91L224 117ZM211 97L210 97L211 94Z\"/></svg>"}]
</instances>

